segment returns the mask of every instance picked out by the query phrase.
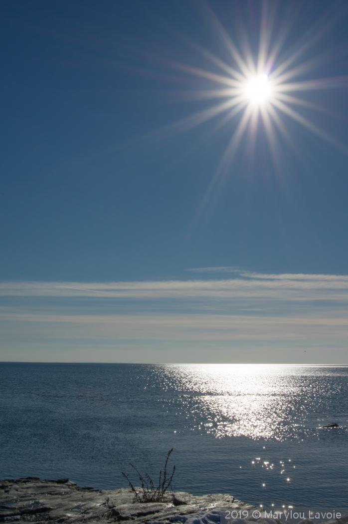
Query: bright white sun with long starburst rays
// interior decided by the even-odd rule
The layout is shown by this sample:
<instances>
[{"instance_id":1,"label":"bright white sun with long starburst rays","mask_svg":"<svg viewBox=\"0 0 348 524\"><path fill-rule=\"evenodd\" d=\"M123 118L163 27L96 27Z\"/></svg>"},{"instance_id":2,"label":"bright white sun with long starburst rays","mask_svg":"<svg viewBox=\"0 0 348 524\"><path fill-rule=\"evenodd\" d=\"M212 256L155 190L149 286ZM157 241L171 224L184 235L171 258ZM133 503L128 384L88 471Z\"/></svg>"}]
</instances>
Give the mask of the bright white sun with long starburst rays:
<instances>
[{"instance_id":1,"label":"bright white sun with long starburst rays","mask_svg":"<svg viewBox=\"0 0 348 524\"><path fill-rule=\"evenodd\" d=\"M292 120L348 156L347 145L325 128L319 127L311 118L311 112L331 116L336 113L308 97L308 92L311 91L342 89L348 85L348 75L309 78L308 74L312 70L326 64L333 55L328 52L310 59L307 57L308 50L342 18L346 7L337 4L329 8L327 14L313 24L310 36L300 37L290 49L286 47L286 39L298 13L294 11L290 17L279 19L279 25L275 23L275 4L264 1L260 5L258 46L256 43L254 48L251 46L246 31L240 42L234 42L208 3L202 1L200 8L226 50L227 60L188 40L190 46L208 60L211 69L169 59L165 61L166 67L199 78L198 89L192 94L184 93L184 100L188 95L188 100L211 100L211 104L159 128L154 135L186 132L208 121L215 121L210 134L216 133L223 126L228 126L230 133L192 227L208 205L215 205L216 194L232 172L233 158L243 141L248 145L248 158L252 163L257 137L263 134L275 170L280 173L284 162L283 147L287 146L296 154L296 144L287 125Z\"/></svg>"}]
</instances>

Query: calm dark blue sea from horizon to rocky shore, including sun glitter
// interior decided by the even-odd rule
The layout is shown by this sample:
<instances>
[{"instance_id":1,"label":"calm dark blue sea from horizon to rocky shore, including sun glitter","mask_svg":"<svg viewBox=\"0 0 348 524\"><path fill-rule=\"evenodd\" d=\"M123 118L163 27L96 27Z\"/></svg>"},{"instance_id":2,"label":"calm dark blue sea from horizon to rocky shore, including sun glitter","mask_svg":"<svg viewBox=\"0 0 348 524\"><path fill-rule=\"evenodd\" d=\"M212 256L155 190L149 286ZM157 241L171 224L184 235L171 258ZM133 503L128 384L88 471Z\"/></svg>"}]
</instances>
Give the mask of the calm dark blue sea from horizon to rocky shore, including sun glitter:
<instances>
[{"instance_id":1,"label":"calm dark blue sea from horizon to rocky shore, including sun glitter","mask_svg":"<svg viewBox=\"0 0 348 524\"><path fill-rule=\"evenodd\" d=\"M178 490L344 507L347 422L347 367L0 363L0 478L122 487L174 447Z\"/></svg>"}]
</instances>

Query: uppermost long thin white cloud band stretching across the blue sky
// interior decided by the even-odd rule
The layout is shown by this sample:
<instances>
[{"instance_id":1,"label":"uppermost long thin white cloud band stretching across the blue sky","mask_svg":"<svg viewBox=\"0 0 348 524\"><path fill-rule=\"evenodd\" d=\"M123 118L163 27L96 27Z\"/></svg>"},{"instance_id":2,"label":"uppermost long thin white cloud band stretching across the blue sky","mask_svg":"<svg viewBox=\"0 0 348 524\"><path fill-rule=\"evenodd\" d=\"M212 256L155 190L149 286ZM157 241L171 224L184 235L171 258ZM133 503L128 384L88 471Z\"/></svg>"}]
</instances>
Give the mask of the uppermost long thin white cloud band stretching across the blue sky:
<instances>
[{"instance_id":1,"label":"uppermost long thin white cloud band stretching across the blue sky","mask_svg":"<svg viewBox=\"0 0 348 524\"><path fill-rule=\"evenodd\" d=\"M2 297L93 297L118 299L259 298L347 300L348 276L267 275L239 272L230 279L138 282L2 282Z\"/></svg>"}]
</instances>

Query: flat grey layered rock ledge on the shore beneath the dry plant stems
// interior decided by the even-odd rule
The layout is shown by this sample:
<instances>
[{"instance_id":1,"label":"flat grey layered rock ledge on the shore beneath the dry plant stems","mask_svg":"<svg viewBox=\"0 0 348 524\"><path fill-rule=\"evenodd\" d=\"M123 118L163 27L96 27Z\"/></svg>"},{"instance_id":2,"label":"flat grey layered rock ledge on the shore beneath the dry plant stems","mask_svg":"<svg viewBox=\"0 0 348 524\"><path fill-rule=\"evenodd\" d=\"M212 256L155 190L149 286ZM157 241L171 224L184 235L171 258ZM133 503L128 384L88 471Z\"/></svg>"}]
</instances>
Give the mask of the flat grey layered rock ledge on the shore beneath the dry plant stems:
<instances>
[{"instance_id":1,"label":"flat grey layered rock ledge on the shore beneath the dry plant stems","mask_svg":"<svg viewBox=\"0 0 348 524\"><path fill-rule=\"evenodd\" d=\"M254 508L231 495L222 494L195 497L190 493L175 492L175 497L168 496L164 503L141 504L134 502L133 493L128 488L98 490L89 486L78 487L67 478L49 481L27 477L0 481L0 521L9 523L171 522L170 517L174 515L190 515L226 506Z\"/></svg>"}]
</instances>

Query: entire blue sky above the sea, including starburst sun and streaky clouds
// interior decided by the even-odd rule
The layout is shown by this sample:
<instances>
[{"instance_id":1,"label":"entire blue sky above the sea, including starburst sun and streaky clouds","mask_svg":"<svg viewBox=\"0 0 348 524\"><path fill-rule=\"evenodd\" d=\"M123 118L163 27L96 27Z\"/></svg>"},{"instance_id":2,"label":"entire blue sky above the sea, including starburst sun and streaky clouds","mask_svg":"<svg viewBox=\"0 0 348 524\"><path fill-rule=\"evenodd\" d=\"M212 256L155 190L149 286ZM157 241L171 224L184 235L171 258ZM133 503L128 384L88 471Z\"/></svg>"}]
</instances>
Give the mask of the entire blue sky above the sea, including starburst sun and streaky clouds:
<instances>
[{"instance_id":1,"label":"entire blue sky above the sea, including starburst sun and streaky clouds","mask_svg":"<svg viewBox=\"0 0 348 524\"><path fill-rule=\"evenodd\" d=\"M0 360L348 364L346 2L0 25Z\"/></svg>"}]
</instances>

